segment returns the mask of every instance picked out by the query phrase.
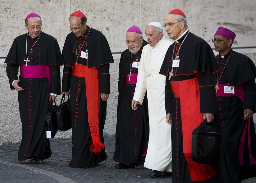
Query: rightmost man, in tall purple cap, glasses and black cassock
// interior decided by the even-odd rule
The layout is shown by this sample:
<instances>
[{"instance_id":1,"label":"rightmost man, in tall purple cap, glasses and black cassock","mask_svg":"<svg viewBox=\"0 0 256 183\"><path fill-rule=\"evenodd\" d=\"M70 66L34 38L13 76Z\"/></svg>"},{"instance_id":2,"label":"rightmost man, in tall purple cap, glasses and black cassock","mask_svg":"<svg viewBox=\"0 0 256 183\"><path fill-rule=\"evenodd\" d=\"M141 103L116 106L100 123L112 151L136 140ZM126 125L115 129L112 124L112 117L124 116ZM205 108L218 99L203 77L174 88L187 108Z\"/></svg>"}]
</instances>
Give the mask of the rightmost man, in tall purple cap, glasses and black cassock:
<instances>
[{"instance_id":1,"label":"rightmost man, in tall purple cap, glasses and black cassock","mask_svg":"<svg viewBox=\"0 0 256 183\"><path fill-rule=\"evenodd\" d=\"M217 115L214 118L229 155L224 158L220 154L221 171L231 163L229 172L242 181L256 176L256 135L252 118L256 110L256 67L249 57L231 49L235 37L233 31L219 27L212 39L215 51L219 52L216 61L220 69L215 78Z\"/></svg>"}]
</instances>

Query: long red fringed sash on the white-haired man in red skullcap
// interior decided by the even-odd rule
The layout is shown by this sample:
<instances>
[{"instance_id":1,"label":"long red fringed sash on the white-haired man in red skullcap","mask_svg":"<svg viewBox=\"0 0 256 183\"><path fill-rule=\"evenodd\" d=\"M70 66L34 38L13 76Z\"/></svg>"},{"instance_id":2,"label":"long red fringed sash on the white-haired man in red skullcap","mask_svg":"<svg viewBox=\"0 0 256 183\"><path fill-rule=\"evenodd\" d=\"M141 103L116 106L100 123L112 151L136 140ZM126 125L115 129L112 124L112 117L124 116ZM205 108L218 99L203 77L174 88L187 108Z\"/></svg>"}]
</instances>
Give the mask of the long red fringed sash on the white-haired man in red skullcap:
<instances>
[{"instance_id":1,"label":"long red fringed sash on the white-haired man in red skullcap","mask_svg":"<svg viewBox=\"0 0 256 183\"><path fill-rule=\"evenodd\" d=\"M210 164L197 163L191 158L192 132L203 122L200 113L200 93L197 78L171 81L174 97L180 98L180 113L182 121L183 153L188 163L192 182L203 182L214 175L216 170Z\"/></svg>"}]
</instances>

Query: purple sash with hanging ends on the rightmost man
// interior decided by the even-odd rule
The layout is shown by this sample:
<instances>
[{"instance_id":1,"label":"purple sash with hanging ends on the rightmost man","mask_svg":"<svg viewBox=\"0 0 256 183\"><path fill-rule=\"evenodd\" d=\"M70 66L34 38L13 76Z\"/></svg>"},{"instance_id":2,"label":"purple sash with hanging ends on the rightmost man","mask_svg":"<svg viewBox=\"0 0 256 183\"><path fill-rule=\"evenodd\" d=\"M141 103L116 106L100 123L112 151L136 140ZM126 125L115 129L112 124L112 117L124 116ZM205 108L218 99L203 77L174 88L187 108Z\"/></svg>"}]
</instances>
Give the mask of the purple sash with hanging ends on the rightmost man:
<instances>
[{"instance_id":1,"label":"purple sash with hanging ends on the rightmost man","mask_svg":"<svg viewBox=\"0 0 256 183\"><path fill-rule=\"evenodd\" d=\"M224 93L224 86L228 86L228 84L218 84L219 89L218 89L218 92L216 93L217 97L239 97L242 100L242 102L244 102L244 88L242 84L235 86L234 93ZM238 152L240 165L244 165L244 143L246 138L246 130L248 131L249 166L256 164L256 161L253 158L251 153L250 124L251 124L251 120L247 119L246 124L244 126L243 134L240 139L239 152Z\"/></svg>"}]
</instances>

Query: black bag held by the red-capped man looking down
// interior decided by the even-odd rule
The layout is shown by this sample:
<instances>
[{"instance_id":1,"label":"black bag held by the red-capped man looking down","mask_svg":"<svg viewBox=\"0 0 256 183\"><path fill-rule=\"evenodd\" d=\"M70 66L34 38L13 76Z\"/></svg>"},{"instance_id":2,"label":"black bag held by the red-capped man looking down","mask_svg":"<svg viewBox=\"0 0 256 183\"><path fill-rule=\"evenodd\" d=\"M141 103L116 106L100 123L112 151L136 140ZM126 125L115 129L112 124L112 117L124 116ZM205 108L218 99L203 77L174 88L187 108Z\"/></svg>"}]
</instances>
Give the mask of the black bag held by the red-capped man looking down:
<instances>
[{"instance_id":1,"label":"black bag held by the red-capped man looking down","mask_svg":"<svg viewBox=\"0 0 256 183\"><path fill-rule=\"evenodd\" d=\"M63 102L62 102L63 101ZM71 109L68 100L65 102L65 94L63 94L60 105L57 108L57 122L60 131L67 131L71 128Z\"/></svg>"}]
</instances>

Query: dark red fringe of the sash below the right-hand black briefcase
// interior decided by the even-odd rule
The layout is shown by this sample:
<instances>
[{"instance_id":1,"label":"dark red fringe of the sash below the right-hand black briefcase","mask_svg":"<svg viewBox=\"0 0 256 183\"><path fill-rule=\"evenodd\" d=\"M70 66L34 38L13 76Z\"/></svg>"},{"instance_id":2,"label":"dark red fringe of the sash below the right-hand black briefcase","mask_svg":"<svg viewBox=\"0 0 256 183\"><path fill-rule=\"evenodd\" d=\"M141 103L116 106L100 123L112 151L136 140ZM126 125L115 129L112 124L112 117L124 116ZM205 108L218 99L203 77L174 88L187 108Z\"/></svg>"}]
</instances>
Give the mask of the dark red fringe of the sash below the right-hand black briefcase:
<instances>
[{"instance_id":1,"label":"dark red fringe of the sash below the right-hand black briefcase","mask_svg":"<svg viewBox=\"0 0 256 183\"><path fill-rule=\"evenodd\" d=\"M191 154L184 154L188 163L188 170L192 182L204 182L217 174L217 171L208 163L197 163L192 160Z\"/></svg>"}]
</instances>

